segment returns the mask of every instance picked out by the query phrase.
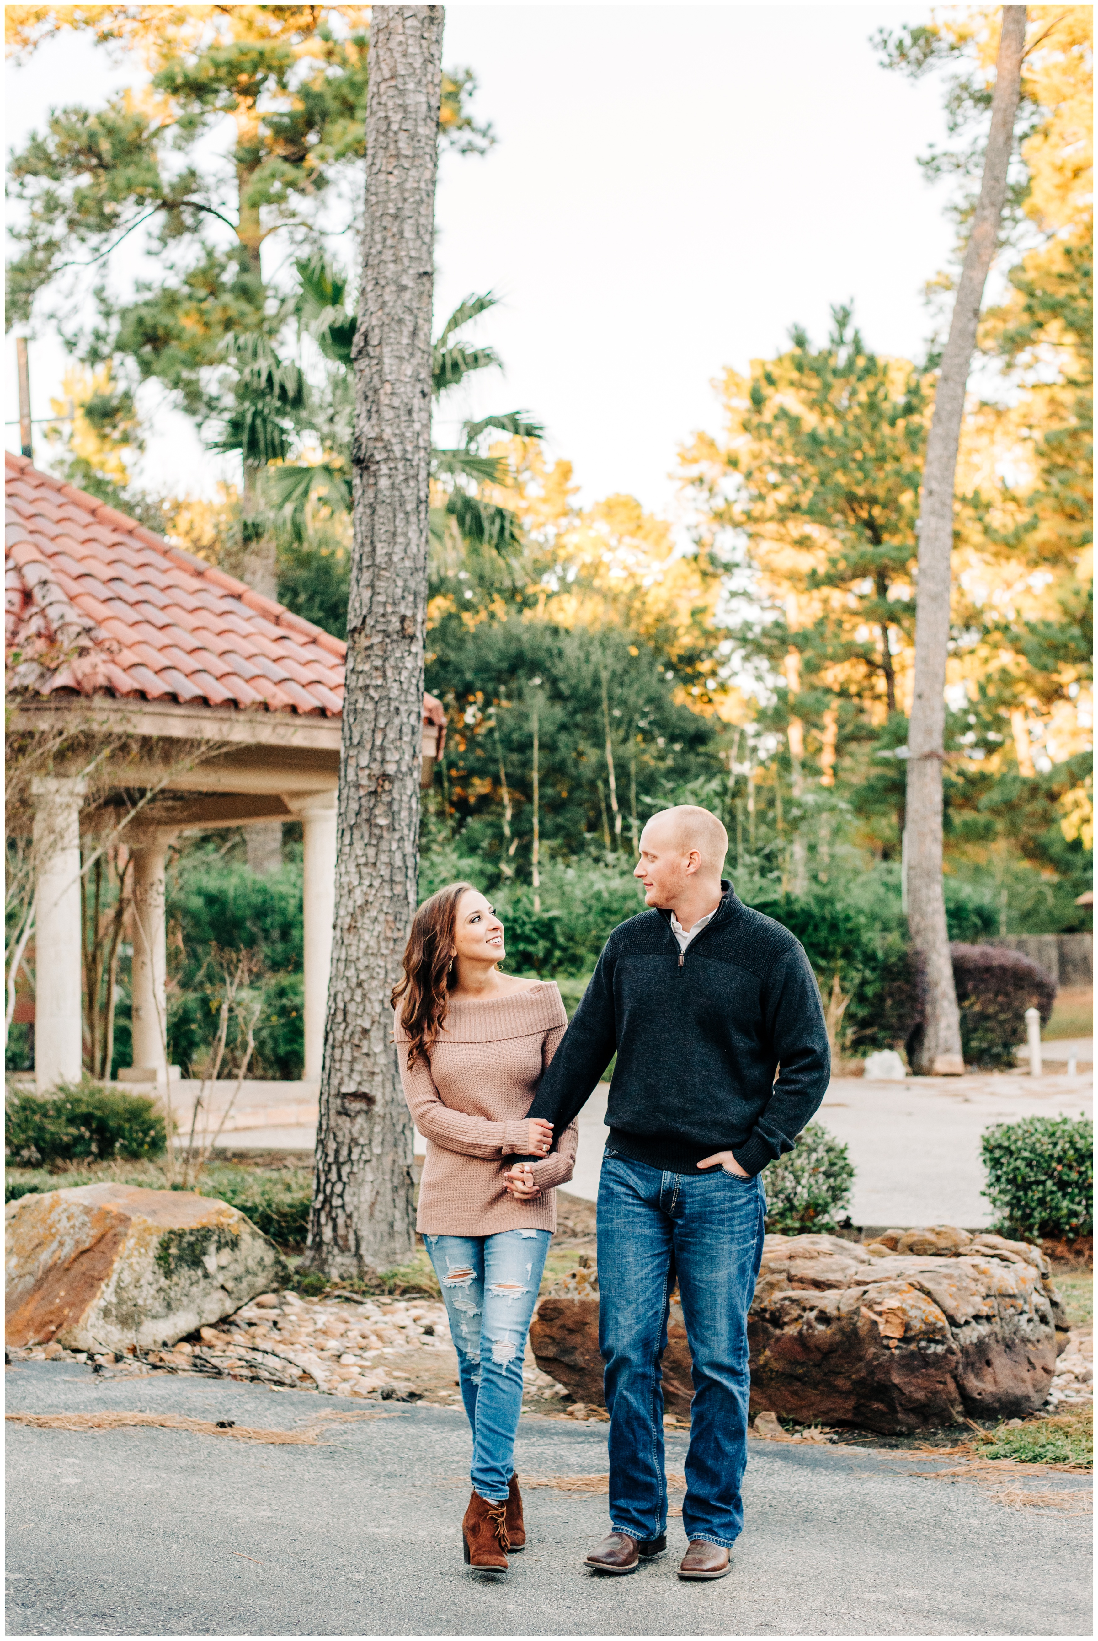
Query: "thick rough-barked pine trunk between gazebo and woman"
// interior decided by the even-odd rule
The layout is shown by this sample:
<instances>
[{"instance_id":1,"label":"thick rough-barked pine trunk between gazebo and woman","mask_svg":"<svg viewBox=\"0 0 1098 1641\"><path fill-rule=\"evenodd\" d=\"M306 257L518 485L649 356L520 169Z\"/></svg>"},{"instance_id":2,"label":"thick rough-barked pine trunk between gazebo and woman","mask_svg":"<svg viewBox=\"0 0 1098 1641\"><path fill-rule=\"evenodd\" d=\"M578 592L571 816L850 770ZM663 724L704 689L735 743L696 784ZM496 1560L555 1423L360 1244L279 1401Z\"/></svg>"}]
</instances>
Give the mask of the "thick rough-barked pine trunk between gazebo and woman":
<instances>
[{"instance_id":1,"label":"thick rough-barked pine trunk between gazebo and woman","mask_svg":"<svg viewBox=\"0 0 1098 1641\"><path fill-rule=\"evenodd\" d=\"M374 7L355 338L355 546L312 1264L386 1270L415 1246L412 1119L389 993L417 901L430 325L443 7Z\"/></svg>"}]
</instances>

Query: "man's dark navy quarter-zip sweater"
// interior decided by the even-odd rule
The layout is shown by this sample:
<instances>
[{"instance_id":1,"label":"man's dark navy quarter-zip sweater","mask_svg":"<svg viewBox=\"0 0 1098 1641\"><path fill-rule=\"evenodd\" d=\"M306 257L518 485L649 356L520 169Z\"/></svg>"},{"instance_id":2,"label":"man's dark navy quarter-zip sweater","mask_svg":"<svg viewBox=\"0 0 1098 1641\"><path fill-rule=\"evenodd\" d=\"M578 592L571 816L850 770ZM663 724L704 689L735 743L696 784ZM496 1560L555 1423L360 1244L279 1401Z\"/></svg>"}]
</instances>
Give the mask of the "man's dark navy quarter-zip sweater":
<instances>
[{"instance_id":1,"label":"man's dark navy quarter-zip sweater","mask_svg":"<svg viewBox=\"0 0 1098 1641\"><path fill-rule=\"evenodd\" d=\"M606 1121L622 1155L693 1173L702 1157L730 1150L755 1175L793 1149L830 1075L819 988L801 942L721 888L686 952L670 911L619 924L532 1118L560 1134L617 1054Z\"/></svg>"}]
</instances>

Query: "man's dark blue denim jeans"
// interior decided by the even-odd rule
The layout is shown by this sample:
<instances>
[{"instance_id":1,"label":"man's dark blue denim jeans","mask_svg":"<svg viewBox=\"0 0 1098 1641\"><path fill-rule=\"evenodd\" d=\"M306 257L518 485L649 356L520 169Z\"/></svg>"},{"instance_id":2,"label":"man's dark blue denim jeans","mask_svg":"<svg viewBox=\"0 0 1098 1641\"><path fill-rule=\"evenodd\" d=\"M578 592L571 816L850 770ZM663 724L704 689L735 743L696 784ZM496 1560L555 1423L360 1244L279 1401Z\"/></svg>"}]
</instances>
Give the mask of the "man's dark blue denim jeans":
<instances>
[{"instance_id":1,"label":"man's dark blue denim jeans","mask_svg":"<svg viewBox=\"0 0 1098 1641\"><path fill-rule=\"evenodd\" d=\"M666 1529L663 1385L678 1277L693 1355L683 1528L730 1547L743 1528L747 1311L763 1252L762 1178L717 1165L663 1173L607 1149L599 1180L599 1349L611 1415L611 1526Z\"/></svg>"}]
</instances>

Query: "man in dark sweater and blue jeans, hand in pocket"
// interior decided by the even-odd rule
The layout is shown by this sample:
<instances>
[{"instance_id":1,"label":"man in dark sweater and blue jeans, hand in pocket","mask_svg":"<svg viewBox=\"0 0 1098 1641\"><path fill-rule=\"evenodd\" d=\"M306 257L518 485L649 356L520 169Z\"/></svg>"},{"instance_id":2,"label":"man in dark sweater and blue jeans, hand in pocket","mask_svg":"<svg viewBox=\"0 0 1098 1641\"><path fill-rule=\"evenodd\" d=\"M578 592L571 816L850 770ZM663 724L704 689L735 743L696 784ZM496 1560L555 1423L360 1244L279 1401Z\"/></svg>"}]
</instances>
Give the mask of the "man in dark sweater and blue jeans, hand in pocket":
<instances>
[{"instance_id":1,"label":"man in dark sweater and blue jeans, hand in pocket","mask_svg":"<svg viewBox=\"0 0 1098 1641\"><path fill-rule=\"evenodd\" d=\"M722 880L727 847L694 804L648 820L635 876L650 911L606 942L528 1113L560 1134L617 1054L597 1206L611 1533L586 1557L607 1574L666 1549L660 1357L676 1278L694 1380L679 1577L729 1572L743 1526L760 1175L793 1149L830 1072L804 950Z\"/></svg>"}]
</instances>

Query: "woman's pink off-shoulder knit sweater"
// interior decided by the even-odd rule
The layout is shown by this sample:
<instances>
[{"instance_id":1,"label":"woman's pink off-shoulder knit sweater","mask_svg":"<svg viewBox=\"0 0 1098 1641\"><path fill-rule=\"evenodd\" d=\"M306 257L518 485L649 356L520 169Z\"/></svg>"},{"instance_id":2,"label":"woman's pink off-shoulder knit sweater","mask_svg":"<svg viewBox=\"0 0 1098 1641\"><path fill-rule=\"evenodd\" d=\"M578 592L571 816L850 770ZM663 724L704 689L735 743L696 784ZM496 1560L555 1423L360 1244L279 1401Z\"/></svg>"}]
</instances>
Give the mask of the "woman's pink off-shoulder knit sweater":
<instances>
[{"instance_id":1,"label":"woman's pink off-shoulder knit sweater","mask_svg":"<svg viewBox=\"0 0 1098 1641\"><path fill-rule=\"evenodd\" d=\"M409 1070L409 1037L397 1012L404 1098L427 1140L415 1229L427 1236L555 1231L555 1185L571 1180L579 1131L532 1163L542 1195L519 1203L504 1190L506 1157L527 1150L525 1114L568 1027L558 988L540 981L487 1003L451 1003L430 1050Z\"/></svg>"}]
</instances>

